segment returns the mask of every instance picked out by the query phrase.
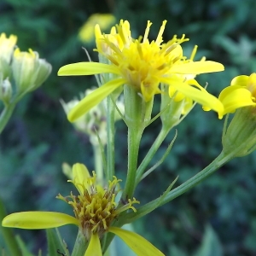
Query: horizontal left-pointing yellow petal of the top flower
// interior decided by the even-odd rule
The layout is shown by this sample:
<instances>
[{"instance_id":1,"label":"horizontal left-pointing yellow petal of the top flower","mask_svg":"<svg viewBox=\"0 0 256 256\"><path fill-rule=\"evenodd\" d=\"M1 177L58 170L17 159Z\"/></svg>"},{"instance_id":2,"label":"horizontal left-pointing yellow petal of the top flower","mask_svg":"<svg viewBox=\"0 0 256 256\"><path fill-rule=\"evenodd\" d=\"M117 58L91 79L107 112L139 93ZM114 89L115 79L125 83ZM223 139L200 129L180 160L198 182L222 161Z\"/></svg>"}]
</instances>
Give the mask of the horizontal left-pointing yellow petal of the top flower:
<instances>
[{"instance_id":1,"label":"horizontal left-pointing yellow petal of the top flower","mask_svg":"<svg viewBox=\"0 0 256 256\"><path fill-rule=\"evenodd\" d=\"M99 62L78 62L61 67L58 76L83 76L96 73L119 74L119 69L116 66Z\"/></svg>"}]
</instances>

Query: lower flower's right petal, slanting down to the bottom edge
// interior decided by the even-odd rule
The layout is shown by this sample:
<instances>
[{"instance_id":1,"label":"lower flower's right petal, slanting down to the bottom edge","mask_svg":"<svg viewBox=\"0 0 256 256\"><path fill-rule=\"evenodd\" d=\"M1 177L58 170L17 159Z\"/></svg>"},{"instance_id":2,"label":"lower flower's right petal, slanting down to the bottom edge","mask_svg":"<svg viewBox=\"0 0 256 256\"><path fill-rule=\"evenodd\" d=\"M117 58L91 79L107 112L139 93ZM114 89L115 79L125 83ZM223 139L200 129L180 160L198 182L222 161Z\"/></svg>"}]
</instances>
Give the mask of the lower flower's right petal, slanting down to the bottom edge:
<instances>
[{"instance_id":1,"label":"lower flower's right petal, slanting down to the bottom edge","mask_svg":"<svg viewBox=\"0 0 256 256\"><path fill-rule=\"evenodd\" d=\"M143 236L139 236L134 232L128 230L122 230L117 227L110 227L109 232L119 236L125 243L131 247L138 256L163 256L160 250L154 247L149 241L147 241Z\"/></svg>"}]
</instances>

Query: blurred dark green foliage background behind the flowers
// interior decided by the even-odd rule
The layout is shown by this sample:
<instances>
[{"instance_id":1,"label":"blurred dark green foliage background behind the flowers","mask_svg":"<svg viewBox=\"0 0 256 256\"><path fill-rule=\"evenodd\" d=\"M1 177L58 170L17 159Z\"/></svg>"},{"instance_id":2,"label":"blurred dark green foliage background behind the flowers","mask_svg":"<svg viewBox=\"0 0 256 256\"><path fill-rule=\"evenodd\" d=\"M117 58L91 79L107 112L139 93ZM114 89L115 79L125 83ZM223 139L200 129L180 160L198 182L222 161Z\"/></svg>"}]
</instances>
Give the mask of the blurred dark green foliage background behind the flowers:
<instances>
[{"instance_id":1,"label":"blurred dark green foliage background behind the flowers","mask_svg":"<svg viewBox=\"0 0 256 256\"><path fill-rule=\"evenodd\" d=\"M88 49L92 60L97 60L92 51L94 42L85 44L78 38L79 28L90 15L112 13L117 21L129 20L133 38L142 35L147 20L151 20L152 40L162 20L168 20L165 40L185 33L190 38L183 44L185 55L198 44L196 60L206 55L225 65L223 73L198 77L218 96L236 75L256 71L255 10L255 0L1 0L0 32L17 35L21 50L32 48L53 66L44 85L19 103L0 137L0 195L7 211L72 213L65 203L55 199L59 192L67 195L73 189L61 172L61 164L83 162L90 170L93 168L88 137L73 130L59 100L70 101L80 91L96 85L96 80L56 75L65 64L87 61L82 47ZM170 156L137 188L137 200L152 200L177 175L177 183L182 183L207 166L221 150L223 123L216 113L203 112L201 106L196 106L177 127L178 137ZM145 131L141 160L158 131L159 120ZM152 164L160 159L173 135L172 131ZM124 145L118 148L117 173L125 177L126 129L121 123L117 140L119 147ZM195 189L137 221L135 230L166 255L256 255L255 156L253 153L232 160ZM42 248L46 254L44 230L15 232L33 253ZM63 227L61 234L72 247L76 228ZM0 241L0 247L4 247Z\"/></svg>"}]
</instances>

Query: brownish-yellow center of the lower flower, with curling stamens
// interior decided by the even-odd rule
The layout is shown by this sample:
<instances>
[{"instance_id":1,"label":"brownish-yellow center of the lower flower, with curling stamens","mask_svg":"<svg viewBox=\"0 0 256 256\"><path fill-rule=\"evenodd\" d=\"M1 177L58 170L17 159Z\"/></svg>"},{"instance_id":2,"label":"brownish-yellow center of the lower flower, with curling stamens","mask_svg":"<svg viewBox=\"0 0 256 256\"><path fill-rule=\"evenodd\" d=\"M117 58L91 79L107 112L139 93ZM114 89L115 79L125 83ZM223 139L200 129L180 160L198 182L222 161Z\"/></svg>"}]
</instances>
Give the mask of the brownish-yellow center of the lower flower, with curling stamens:
<instances>
[{"instance_id":1,"label":"brownish-yellow center of the lower flower, with curling stamens","mask_svg":"<svg viewBox=\"0 0 256 256\"><path fill-rule=\"evenodd\" d=\"M116 208L115 196L118 193L116 188L120 181L117 177L113 177L113 181L108 182L108 188L103 189L102 186L96 184L96 173L93 172L93 177L87 177L82 184L81 181L80 183L76 182L76 177L71 181L79 189L80 195L76 196L71 193L66 197L57 196L57 198L66 201L73 207L75 217L79 219L79 228L86 239L90 240L92 234L101 237L108 231L113 219L120 212L128 209L136 212L132 205L139 202L135 199L129 200L125 206ZM81 191L83 191L83 194L81 194Z\"/></svg>"}]
</instances>

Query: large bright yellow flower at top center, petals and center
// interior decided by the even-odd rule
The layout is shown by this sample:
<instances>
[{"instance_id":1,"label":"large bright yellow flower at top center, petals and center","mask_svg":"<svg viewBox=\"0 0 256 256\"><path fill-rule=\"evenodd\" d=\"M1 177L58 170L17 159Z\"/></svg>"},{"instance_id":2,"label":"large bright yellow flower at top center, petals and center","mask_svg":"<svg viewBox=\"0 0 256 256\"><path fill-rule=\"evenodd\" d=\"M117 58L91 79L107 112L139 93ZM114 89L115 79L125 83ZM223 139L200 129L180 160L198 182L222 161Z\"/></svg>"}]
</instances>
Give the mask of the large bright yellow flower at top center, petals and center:
<instances>
[{"instance_id":1,"label":"large bright yellow flower at top center, petals and center","mask_svg":"<svg viewBox=\"0 0 256 256\"><path fill-rule=\"evenodd\" d=\"M94 93L86 96L73 108L68 115L70 121L78 119L123 84L129 84L137 90L145 102L150 101L155 94L161 93L160 83L168 84L170 94L172 90L177 90L208 108L218 112L223 111L223 106L217 98L203 90L195 79L190 80L187 77L223 71L224 66L214 61L193 61L193 58L188 60L183 56L183 49L180 45L189 40L184 35L179 39L174 36L172 40L162 44L166 20L163 21L157 38L149 43L148 33L151 25L152 23L148 21L144 36L138 39L131 38L130 24L127 20L121 20L116 26L117 33L113 28L110 36L102 34L96 26L96 50L109 60L109 64L79 62L60 68L58 72L60 76L114 74L113 79L102 84Z\"/></svg>"}]
</instances>

